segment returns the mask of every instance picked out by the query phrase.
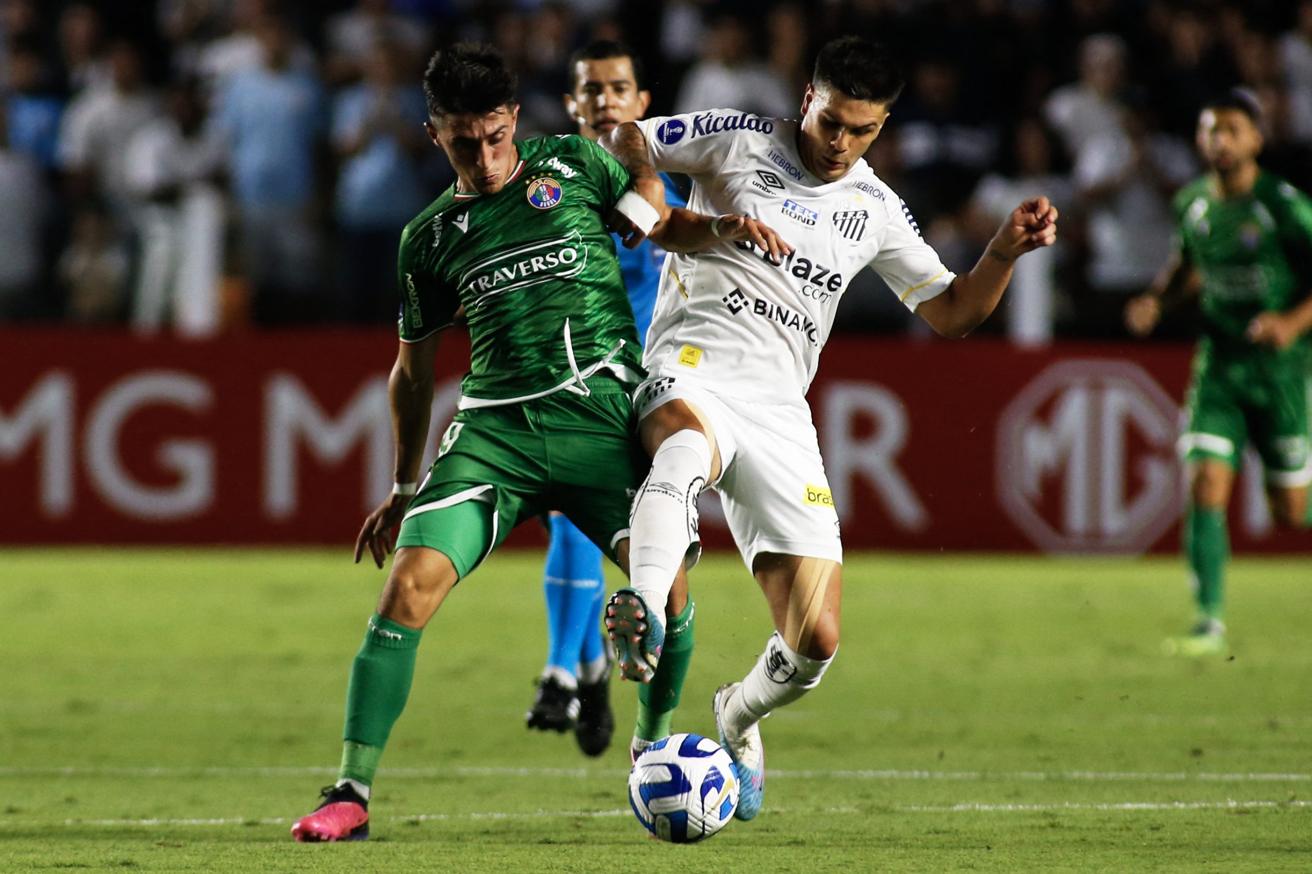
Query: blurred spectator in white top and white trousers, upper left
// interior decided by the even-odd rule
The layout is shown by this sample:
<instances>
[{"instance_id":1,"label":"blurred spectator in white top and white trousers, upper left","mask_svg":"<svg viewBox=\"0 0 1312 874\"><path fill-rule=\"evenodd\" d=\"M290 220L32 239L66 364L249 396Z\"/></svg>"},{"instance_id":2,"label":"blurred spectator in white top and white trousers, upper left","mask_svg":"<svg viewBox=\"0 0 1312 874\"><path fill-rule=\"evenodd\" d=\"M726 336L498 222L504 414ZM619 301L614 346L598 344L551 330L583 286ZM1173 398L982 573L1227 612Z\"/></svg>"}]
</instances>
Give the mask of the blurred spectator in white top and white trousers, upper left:
<instances>
[{"instance_id":1,"label":"blurred spectator in white top and white trousers, upper left","mask_svg":"<svg viewBox=\"0 0 1312 874\"><path fill-rule=\"evenodd\" d=\"M165 105L168 115L138 131L125 157L142 201L133 325L156 332L172 316L178 333L203 337L219 328L224 210L216 182L227 154L205 130L195 83L172 85Z\"/></svg>"}]
</instances>

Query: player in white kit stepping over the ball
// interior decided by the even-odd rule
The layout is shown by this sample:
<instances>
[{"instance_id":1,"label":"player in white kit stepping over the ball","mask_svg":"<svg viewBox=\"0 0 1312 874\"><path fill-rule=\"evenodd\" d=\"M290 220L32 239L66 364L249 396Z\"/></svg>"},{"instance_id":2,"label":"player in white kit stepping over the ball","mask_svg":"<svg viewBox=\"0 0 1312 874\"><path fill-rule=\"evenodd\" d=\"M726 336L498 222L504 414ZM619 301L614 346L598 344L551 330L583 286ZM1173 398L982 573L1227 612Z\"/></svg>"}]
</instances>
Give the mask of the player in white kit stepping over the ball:
<instances>
[{"instance_id":1,"label":"player in white kit stepping over the ball","mask_svg":"<svg viewBox=\"0 0 1312 874\"><path fill-rule=\"evenodd\" d=\"M845 37L820 51L800 122L716 109L604 140L652 201L656 172L687 173L689 209L752 217L787 241L665 260L635 404L652 468L634 500L630 587L606 608L622 675L648 682L661 606L697 556L697 496L714 487L775 627L714 701L741 780L739 819L761 807L760 720L815 688L838 648L838 513L806 394L849 280L872 268L938 333L962 337L997 306L1015 259L1056 240L1057 211L1040 197L1012 213L970 273L945 268L861 157L901 87L880 47Z\"/></svg>"}]
</instances>

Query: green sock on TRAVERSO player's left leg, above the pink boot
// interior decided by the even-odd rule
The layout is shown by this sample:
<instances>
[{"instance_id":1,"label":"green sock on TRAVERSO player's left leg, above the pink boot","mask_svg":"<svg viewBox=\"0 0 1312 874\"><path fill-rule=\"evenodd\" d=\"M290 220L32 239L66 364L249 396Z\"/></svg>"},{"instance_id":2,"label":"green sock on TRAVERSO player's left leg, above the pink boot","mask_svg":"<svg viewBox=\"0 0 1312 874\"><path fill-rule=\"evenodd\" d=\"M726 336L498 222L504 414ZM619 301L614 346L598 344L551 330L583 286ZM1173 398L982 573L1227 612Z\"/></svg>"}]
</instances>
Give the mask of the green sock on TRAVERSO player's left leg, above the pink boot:
<instances>
[{"instance_id":1,"label":"green sock on TRAVERSO player's left leg, above the pink boot","mask_svg":"<svg viewBox=\"0 0 1312 874\"><path fill-rule=\"evenodd\" d=\"M415 678L415 650L422 635L377 613L369 621L365 642L350 665L338 780L373 785L387 736L405 709Z\"/></svg>"}]
</instances>

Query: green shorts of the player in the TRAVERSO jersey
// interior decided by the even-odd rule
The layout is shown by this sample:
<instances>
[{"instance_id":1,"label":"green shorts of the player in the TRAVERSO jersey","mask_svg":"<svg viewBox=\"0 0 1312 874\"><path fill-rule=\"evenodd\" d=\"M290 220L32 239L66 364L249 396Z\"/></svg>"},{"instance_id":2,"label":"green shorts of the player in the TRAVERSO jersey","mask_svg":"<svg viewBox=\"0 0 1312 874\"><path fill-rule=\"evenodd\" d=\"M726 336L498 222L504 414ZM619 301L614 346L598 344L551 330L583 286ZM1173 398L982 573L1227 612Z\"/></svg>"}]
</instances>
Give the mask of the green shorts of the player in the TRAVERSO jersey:
<instances>
[{"instance_id":1,"label":"green shorts of the player in the TRAVERSO jersey","mask_svg":"<svg viewBox=\"0 0 1312 874\"><path fill-rule=\"evenodd\" d=\"M396 546L438 550L463 579L516 525L560 510L614 560L651 462L626 386L602 375L588 387L458 412Z\"/></svg>"}]
</instances>

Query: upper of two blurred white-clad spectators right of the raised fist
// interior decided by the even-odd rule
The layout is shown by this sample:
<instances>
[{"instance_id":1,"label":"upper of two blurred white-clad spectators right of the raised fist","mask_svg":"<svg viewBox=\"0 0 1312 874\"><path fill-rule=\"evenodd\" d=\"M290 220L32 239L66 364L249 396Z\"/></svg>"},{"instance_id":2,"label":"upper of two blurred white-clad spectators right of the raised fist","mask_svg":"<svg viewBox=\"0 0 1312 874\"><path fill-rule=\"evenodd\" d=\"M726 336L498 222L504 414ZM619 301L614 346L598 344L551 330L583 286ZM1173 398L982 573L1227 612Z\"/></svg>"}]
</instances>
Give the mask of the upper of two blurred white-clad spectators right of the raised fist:
<instances>
[{"instance_id":1,"label":"upper of two blurred white-clad spectators right of the raised fist","mask_svg":"<svg viewBox=\"0 0 1312 874\"><path fill-rule=\"evenodd\" d=\"M1097 34L1080 46L1080 81L1052 92L1044 105L1048 123L1078 160L1094 136L1120 129L1120 89L1126 84L1126 43Z\"/></svg>"}]
</instances>

